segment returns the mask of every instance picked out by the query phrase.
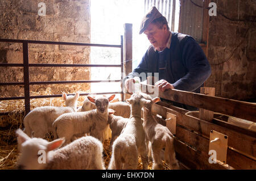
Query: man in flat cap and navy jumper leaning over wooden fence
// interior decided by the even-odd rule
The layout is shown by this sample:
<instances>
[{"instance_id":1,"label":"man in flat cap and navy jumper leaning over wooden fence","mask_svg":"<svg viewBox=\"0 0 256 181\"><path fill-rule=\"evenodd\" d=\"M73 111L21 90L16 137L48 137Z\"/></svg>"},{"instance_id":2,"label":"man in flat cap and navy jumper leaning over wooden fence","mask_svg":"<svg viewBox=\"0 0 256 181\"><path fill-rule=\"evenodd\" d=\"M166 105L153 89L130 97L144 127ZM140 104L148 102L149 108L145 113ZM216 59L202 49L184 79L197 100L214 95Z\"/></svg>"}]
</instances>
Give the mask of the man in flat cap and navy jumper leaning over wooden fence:
<instances>
[{"instance_id":1,"label":"man in flat cap and navy jumper leaning over wooden fence","mask_svg":"<svg viewBox=\"0 0 256 181\"><path fill-rule=\"evenodd\" d=\"M139 74L152 73L151 76L156 77L154 73L159 73L159 81L155 83L159 91L200 92L211 69L200 45L191 36L171 32L166 18L156 7L144 16L139 33L144 33L151 45L138 67L123 79L127 91L132 92L134 77Z\"/></svg>"}]
</instances>

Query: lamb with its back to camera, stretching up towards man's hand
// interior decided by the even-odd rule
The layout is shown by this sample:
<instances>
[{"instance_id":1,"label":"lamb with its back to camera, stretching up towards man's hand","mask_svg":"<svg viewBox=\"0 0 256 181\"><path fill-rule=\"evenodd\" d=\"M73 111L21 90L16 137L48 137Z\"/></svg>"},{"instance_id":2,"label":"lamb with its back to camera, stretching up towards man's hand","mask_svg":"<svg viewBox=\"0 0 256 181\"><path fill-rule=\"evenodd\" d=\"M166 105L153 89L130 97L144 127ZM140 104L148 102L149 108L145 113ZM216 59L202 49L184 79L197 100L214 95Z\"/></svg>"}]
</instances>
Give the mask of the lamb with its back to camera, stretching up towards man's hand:
<instances>
[{"instance_id":1,"label":"lamb with its back to camera, stretching up towards man's hand","mask_svg":"<svg viewBox=\"0 0 256 181\"><path fill-rule=\"evenodd\" d=\"M137 169L138 154L141 155L143 169L147 169L145 132L141 120L141 109L146 99L141 94L135 93L126 101L131 104L131 116L120 136L113 143L109 169Z\"/></svg>"}]
</instances>

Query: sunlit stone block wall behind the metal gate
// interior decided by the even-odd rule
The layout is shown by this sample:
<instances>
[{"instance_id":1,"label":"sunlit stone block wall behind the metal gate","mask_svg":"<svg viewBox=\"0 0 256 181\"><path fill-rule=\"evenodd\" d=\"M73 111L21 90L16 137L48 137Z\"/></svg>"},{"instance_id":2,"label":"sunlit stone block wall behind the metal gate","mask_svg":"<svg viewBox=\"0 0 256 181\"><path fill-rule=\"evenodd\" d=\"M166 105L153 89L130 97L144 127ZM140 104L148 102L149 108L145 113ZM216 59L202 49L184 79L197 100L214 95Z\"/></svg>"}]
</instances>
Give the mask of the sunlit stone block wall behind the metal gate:
<instances>
[{"instance_id":1,"label":"sunlit stone block wall behind the metal gate","mask_svg":"<svg viewBox=\"0 0 256 181\"><path fill-rule=\"evenodd\" d=\"M39 16L38 3L46 4ZM90 0L0 1L0 38L90 43ZM30 64L90 64L90 48L67 45L30 44ZM0 43L0 62L23 63L22 44ZM0 82L23 82L23 68L0 68ZM30 68L30 81L90 79L90 68ZM90 84L36 85L31 91L51 87L61 91L90 91ZM23 86L0 86L0 96L20 96Z\"/></svg>"}]
</instances>

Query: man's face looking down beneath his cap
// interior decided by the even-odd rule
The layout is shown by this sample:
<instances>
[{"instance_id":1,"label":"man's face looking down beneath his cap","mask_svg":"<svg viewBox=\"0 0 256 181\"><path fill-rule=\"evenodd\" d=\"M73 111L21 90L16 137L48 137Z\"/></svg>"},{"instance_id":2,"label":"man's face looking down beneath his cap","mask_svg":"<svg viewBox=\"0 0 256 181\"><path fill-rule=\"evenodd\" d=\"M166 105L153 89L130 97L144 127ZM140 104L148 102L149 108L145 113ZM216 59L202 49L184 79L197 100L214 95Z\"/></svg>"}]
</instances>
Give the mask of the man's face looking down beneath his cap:
<instances>
[{"instance_id":1,"label":"man's face looking down beneath his cap","mask_svg":"<svg viewBox=\"0 0 256 181\"><path fill-rule=\"evenodd\" d=\"M164 24L162 28L159 28L156 24L150 23L147 29L144 31L147 39L156 49L158 49L159 47L164 47L166 45L167 33L168 30L166 24Z\"/></svg>"}]
</instances>

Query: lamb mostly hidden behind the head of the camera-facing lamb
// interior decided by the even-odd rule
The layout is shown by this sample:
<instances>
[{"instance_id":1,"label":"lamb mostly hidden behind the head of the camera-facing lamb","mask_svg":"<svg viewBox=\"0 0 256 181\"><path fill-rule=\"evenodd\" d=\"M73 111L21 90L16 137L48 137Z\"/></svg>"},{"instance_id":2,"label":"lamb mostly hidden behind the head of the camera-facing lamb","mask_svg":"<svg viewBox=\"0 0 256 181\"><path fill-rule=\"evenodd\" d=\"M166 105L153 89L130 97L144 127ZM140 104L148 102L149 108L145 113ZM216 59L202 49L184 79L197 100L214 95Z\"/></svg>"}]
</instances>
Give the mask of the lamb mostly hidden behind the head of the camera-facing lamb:
<instances>
[{"instance_id":1,"label":"lamb mostly hidden behind the head of the camera-facing lamb","mask_svg":"<svg viewBox=\"0 0 256 181\"><path fill-rule=\"evenodd\" d=\"M125 102L109 103L109 108L115 111L114 115L116 116L122 116L126 118L130 117L131 108L130 105ZM77 111L90 111L93 109L96 109L95 104L90 102L88 99L85 99L84 103L81 107L79 107Z\"/></svg>"}]
</instances>

